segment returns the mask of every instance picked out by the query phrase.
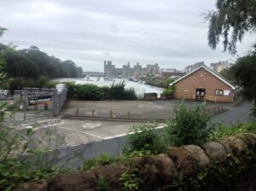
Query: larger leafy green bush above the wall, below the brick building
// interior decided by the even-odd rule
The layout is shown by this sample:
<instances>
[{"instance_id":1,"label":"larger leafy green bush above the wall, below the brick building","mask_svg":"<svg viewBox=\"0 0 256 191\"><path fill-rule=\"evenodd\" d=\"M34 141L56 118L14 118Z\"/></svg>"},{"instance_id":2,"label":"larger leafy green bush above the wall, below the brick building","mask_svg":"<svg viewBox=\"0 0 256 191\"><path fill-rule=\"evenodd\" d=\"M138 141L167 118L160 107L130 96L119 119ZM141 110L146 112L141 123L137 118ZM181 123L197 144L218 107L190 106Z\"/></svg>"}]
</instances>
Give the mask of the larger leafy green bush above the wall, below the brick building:
<instances>
[{"instance_id":1,"label":"larger leafy green bush above the wall, below the brick building","mask_svg":"<svg viewBox=\"0 0 256 191\"><path fill-rule=\"evenodd\" d=\"M166 142L175 146L207 142L212 128L207 127L210 117L204 112L205 105L203 103L189 108L182 101L176 106L175 116L166 121Z\"/></svg>"}]
</instances>

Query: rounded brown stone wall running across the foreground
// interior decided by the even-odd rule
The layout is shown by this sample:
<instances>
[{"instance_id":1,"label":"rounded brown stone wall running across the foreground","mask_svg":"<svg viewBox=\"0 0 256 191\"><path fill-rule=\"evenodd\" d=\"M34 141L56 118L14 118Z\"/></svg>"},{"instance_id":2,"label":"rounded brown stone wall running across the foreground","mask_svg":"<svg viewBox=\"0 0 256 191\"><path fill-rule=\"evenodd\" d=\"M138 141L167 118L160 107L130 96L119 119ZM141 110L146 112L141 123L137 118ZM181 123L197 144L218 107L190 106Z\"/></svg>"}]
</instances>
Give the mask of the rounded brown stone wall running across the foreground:
<instances>
[{"instance_id":1,"label":"rounded brown stone wall running across the foreground","mask_svg":"<svg viewBox=\"0 0 256 191\"><path fill-rule=\"evenodd\" d=\"M59 177L55 177L50 181L28 182L20 184L15 190L25 191L46 191L46 190L61 190L61 191L94 191L98 190L96 186L99 180L109 182L108 190L123 190L123 185L120 183L120 177L131 169L137 170L137 176L143 178L143 185L138 190L176 190L168 185L173 184L173 180L180 175L192 175L199 168L207 168L208 165L218 164L221 167L224 164L229 164L230 156L240 158L246 155L250 150L256 153L256 135L249 134L246 136L234 136L225 138L219 142L207 142L201 147L196 145L186 145L181 148L169 148L166 153L160 153L151 156L135 157L131 159L130 164L113 164L95 167L90 171L70 172ZM254 155L255 156L255 155ZM255 160L255 158L253 158ZM252 164L255 164L254 161ZM255 165L252 166L255 169ZM247 166L250 170L251 166ZM225 171L225 170L224 170ZM228 171L228 170L227 170ZM237 169L237 171L239 171ZM255 173L254 173L255 174ZM250 175L250 173L248 173ZM241 177L247 175L241 174ZM192 177L192 176L191 176ZM253 180L248 180L241 184L241 188L232 190L255 190L256 177L251 176ZM226 177L227 179L230 177ZM240 180L240 179L239 179ZM193 179L189 179L190 182ZM236 180L234 180L236 182ZM177 183L177 182L176 182ZM207 185L210 187L210 185ZM212 185L211 185L212 186ZM214 190L226 190L228 185L213 185ZM248 187L248 188L243 188ZM131 189L132 190L132 189ZM185 190L191 190L187 188ZM201 190L201 189L198 189ZM205 189L203 189L205 190ZM211 190L211 189L207 189Z\"/></svg>"}]
</instances>

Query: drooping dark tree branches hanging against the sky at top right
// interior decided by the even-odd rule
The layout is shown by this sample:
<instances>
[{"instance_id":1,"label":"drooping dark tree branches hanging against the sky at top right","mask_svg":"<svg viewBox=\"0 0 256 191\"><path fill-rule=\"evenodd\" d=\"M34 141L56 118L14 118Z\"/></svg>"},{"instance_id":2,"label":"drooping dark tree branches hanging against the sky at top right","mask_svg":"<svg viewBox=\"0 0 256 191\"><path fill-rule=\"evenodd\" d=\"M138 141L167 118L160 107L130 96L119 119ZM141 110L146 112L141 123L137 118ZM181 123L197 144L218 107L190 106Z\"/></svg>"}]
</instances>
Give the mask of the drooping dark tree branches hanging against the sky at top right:
<instances>
[{"instance_id":1,"label":"drooping dark tree branches hanging against the sky at top right","mask_svg":"<svg viewBox=\"0 0 256 191\"><path fill-rule=\"evenodd\" d=\"M255 0L217 0L217 10L207 14L208 44L216 49L223 38L224 51L236 54L236 43L245 32L256 32Z\"/></svg>"}]
</instances>

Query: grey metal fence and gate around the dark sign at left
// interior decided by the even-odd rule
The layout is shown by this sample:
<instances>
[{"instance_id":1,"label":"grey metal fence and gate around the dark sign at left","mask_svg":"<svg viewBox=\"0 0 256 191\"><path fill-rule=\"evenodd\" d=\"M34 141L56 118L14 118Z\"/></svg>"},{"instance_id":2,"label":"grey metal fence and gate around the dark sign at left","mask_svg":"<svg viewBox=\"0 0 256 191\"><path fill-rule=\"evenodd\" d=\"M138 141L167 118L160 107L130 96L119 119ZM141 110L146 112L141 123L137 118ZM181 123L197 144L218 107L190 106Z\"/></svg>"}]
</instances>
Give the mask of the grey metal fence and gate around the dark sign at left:
<instances>
[{"instance_id":1,"label":"grey metal fence and gate around the dark sign at left","mask_svg":"<svg viewBox=\"0 0 256 191\"><path fill-rule=\"evenodd\" d=\"M35 102L32 99L48 97L49 101ZM5 121L18 122L42 117L58 116L61 108L67 99L67 89L38 89L26 88L24 90L15 90L13 96L8 96L2 101L7 101L8 107L5 115Z\"/></svg>"}]
</instances>

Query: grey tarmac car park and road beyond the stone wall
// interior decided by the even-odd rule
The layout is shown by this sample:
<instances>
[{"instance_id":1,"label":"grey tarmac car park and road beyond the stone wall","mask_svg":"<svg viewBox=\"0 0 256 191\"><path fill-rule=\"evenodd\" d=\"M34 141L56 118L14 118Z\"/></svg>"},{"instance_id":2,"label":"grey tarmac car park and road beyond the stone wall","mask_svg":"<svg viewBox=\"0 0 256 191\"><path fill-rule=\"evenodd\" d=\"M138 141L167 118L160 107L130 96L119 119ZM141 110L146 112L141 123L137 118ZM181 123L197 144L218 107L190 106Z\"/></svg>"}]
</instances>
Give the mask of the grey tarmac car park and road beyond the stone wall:
<instances>
[{"instance_id":1,"label":"grey tarmac car park and road beyond the stone wall","mask_svg":"<svg viewBox=\"0 0 256 191\"><path fill-rule=\"evenodd\" d=\"M119 110L119 112L126 111L128 107L133 113L136 115L142 114L143 117L152 116L153 114L154 116L163 116L168 111L168 115L165 116L170 117L175 104L177 103L174 101L75 101L70 103L69 108L64 112L73 112L73 109L78 106L84 111L85 108L89 111L91 108L109 110L108 106L111 105L110 108ZM189 102L189 106L194 104L193 101ZM216 106L214 103L208 104L208 107L214 106ZM240 107L232 107L227 104L225 107L229 108L229 111L213 116L213 123L236 124L246 123L250 120L249 113L253 107L252 103L244 102ZM142 111L145 113L142 113ZM55 159L55 165L64 165L67 158L73 155L73 152L78 152L80 154L79 158L75 157L69 160L72 163L71 166L77 167L83 163L84 159L91 159L100 156L102 153L108 153L111 156L121 153L126 142L127 133L136 124L85 119L44 118L37 119L36 123L30 121L15 124L15 129L26 136L26 129L33 127L34 134L29 138L30 147L32 148L49 148L52 150L58 148L61 154Z\"/></svg>"}]
</instances>

